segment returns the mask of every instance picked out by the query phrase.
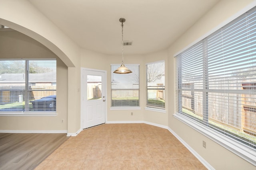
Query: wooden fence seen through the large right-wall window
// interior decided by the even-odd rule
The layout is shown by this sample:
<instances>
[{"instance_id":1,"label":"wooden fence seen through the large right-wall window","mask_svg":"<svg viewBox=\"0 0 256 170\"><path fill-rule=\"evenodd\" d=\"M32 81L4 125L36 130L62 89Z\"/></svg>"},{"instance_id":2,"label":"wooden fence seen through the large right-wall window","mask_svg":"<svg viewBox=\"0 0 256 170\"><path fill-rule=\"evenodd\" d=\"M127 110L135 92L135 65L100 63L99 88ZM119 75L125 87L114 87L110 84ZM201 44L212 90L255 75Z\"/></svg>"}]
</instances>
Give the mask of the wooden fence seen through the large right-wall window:
<instances>
[{"instance_id":1,"label":"wooden fence seen through the large right-wall window","mask_svg":"<svg viewBox=\"0 0 256 170\"><path fill-rule=\"evenodd\" d=\"M232 84L232 83L231 83ZM196 88L186 84L186 88ZM223 89L223 84L215 84ZM232 90L255 90L256 83L235 83ZM251 88L251 89L248 89ZM255 89L254 89L255 88ZM203 93L196 90L182 92L182 107L203 117ZM229 105L227 105L229 104ZM208 118L216 123L256 135L256 94L208 92Z\"/></svg>"}]
</instances>

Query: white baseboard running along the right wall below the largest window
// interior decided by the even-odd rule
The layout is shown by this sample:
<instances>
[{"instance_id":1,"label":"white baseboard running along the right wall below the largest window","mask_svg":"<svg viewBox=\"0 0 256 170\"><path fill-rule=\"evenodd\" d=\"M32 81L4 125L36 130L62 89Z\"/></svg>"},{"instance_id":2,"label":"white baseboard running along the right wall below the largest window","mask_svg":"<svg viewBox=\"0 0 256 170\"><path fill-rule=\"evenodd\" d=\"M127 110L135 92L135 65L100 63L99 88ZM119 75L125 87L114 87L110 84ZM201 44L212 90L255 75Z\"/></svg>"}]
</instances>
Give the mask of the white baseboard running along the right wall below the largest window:
<instances>
[{"instance_id":1,"label":"white baseboard running along the right wall below the largest window","mask_svg":"<svg viewBox=\"0 0 256 170\"><path fill-rule=\"evenodd\" d=\"M202 156L200 156L194 149L192 149L183 139L181 139L170 127L167 128L172 135L174 135L196 158L208 169L215 170Z\"/></svg>"}]
</instances>

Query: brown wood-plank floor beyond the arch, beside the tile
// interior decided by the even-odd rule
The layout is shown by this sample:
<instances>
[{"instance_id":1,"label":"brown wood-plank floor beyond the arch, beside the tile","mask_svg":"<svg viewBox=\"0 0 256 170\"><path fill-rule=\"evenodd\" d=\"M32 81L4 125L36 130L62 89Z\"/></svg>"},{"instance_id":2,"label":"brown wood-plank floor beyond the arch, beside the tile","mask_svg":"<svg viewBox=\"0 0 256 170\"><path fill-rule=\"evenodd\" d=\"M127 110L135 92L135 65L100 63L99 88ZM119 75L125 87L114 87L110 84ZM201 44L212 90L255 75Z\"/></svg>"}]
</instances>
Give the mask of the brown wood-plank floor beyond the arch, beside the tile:
<instances>
[{"instance_id":1,"label":"brown wood-plank floor beyond the arch, beside the tile","mask_svg":"<svg viewBox=\"0 0 256 170\"><path fill-rule=\"evenodd\" d=\"M33 170L68 138L66 133L0 133L0 170Z\"/></svg>"}]
</instances>

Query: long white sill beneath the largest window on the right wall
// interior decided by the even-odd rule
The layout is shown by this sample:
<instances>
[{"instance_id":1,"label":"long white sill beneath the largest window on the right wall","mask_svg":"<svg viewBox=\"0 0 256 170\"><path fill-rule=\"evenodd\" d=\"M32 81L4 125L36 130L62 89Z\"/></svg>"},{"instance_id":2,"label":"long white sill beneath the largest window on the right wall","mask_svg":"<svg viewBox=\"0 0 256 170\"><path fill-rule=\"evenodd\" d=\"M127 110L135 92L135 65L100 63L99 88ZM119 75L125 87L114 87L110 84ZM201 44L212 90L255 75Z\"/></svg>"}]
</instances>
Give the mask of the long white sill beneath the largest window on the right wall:
<instances>
[{"instance_id":1,"label":"long white sill beneath the largest window on the right wall","mask_svg":"<svg viewBox=\"0 0 256 170\"><path fill-rule=\"evenodd\" d=\"M174 114L174 117L189 127L192 127L199 133L202 133L204 136L208 137L212 141L218 143L222 147L230 150L234 154L240 156L244 160L250 162L254 166L256 166L256 151L251 149L250 147L247 147L246 145L243 145L239 142L237 142L234 139L231 139L223 134L220 134L204 125L201 125L200 123L196 123L189 119L188 117L180 114Z\"/></svg>"}]
</instances>

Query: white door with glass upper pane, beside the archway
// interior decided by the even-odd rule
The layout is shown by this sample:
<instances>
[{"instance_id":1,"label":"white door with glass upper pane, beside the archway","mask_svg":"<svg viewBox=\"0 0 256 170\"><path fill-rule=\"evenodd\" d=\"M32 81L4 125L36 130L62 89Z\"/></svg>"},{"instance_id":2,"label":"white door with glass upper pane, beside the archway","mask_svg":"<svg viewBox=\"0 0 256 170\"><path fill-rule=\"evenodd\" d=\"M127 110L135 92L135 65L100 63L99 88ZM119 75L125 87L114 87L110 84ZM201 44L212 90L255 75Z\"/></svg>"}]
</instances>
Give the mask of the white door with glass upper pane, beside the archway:
<instances>
[{"instance_id":1,"label":"white door with glass upper pane, beside the archway","mask_svg":"<svg viewBox=\"0 0 256 170\"><path fill-rule=\"evenodd\" d=\"M105 123L105 72L83 70L83 129Z\"/></svg>"}]
</instances>

